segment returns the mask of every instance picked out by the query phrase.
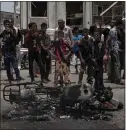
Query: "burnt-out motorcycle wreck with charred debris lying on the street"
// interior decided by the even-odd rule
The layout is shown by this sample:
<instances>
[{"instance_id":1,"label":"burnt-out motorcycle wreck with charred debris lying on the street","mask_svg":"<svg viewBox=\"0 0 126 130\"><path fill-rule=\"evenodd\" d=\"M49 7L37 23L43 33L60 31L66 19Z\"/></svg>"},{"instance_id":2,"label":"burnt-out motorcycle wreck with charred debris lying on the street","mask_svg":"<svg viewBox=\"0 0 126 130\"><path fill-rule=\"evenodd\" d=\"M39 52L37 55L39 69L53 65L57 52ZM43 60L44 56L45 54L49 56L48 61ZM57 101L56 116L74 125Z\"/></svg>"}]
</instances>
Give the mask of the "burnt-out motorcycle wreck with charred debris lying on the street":
<instances>
[{"instance_id":1,"label":"burnt-out motorcycle wreck with charred debris lying on the street","mask_svg":"<svg viewBox=\"0 0 126 130\"><path fill-rule=\"evenodd\" d=\"M21 86L28 89L29 85L33 85L33 88L36 89L36 96L47 94L46 98L36 97L28 98L27 100L23 100L20 98ZM5 94L7 88L12 86L17 86L18 90L16 91L18 96L15 98L14 95L11 95L15 92L12 88L9 89L9 94ZM35 87L36 86L36 87ZM32 87L31 87L32 88ZM83 88L83 89L82 89ZM106 88L106 90L101 93L92 91L92 88L88 86L88 84L76 84L76 85L68 85L67 87L63 87L61 90L60 87L41 87L37 83L19 83L19 84L11 84L7 85L3 89L4 100L9 102L15 102L18 104L14 110L7 112L3 115L4 119L11 120L28 120L28 121L50 121L50 120L59 120L63 118L73 118L73 119L84 119L85 121L89 120L106 120L109 121L112 118L112 115L105 113L105 110L100 107L101 104L105 101L110 101L113 94L110 88ZM82 92L87 94L87 91L91 91L93 95L88 96L87 98L80 98L79 96L84 96ZM97 95L100 95L104 100L98 100ZM6 96L10 96L10 99L6 99ZM103 96L103 97L102 97ZM106 97L105 97L106 96ZM86 99L86 100L85 100ZM98 101L95 104L95 101ZM116 101L118 104L117 109L122 109L123 104L121 102ZM117 110L116 109L116 110Z\"/></svg>"}]
</instances>

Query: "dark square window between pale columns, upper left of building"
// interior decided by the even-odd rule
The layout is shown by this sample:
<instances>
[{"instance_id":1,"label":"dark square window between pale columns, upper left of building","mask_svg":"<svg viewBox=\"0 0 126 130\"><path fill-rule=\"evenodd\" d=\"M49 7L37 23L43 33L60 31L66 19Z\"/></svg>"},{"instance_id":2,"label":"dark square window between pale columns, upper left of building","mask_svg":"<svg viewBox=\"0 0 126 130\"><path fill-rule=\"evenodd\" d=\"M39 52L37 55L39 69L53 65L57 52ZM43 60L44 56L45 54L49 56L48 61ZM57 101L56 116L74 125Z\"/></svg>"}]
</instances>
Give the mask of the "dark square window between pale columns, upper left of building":
<instances>
[{"instance_id":1,"label":"dark square window between pale columns, upper left of building","mask_svg":"<svg viewBox=\"0 0 126 130\"><path fill-rule=\"evenodd\" d=\"M47 1L31 2L32 17L47 17Z\"/></svg>"}]
</instances>

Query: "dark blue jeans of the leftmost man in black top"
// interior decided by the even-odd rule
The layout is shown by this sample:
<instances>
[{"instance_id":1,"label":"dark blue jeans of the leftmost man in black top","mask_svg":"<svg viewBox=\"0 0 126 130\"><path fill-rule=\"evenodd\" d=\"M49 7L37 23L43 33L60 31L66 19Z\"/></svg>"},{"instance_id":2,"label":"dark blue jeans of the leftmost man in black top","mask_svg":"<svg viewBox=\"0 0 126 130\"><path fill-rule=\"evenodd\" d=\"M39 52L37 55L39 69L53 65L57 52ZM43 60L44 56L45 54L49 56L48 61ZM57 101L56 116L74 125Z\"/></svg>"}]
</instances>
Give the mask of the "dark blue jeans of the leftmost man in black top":
<instances>
[{"instance_id":1,"label":"dark blue jeans of the leftmost man in black top","mask_svg":"<svg viewBox=\"0 0 126 130\"><path fill-rule=\"evenodd\" d=\"M5 69L7 72L7 77L8 80L11 81L12 80L12 75L11 75L11 70L10 70L10 66L12 65L12 68L15 71L15 75L16 75L16 79L18 79L20 77L20 71L18 69L18 63L17 63L17 58L16 58L16 54L5 54L4 56L4 64L5 64Z\"/></svg>"}]
</instances>

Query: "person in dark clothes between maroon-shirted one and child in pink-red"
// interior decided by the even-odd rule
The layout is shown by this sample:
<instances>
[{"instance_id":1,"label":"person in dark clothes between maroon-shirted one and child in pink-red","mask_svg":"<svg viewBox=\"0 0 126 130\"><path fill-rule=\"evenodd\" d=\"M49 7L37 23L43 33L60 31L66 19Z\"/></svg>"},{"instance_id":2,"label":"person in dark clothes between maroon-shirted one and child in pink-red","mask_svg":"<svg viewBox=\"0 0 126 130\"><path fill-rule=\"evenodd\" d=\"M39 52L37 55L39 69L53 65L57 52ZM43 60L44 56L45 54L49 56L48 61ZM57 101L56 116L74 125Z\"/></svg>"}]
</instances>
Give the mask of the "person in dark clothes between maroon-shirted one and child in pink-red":
<instances>
[{"instance_id":1,"label":"person in dark clothes between maroon-shirted one and child in pink-red","mask_svg":"<svg viewBox=\"0 0 126 130\"><path fill-rule=\"evenodd\" d=\"M45 74L44 74L44 80L46 80L47 82L49 82L49 73L51 70L51 55L48 52L48 49L50 47L51 44L51 40L50 40L50 36L48 34L46 34L46 30L47 30L47 24L46 23L42 23L41 24L41 33L40 33L40 39L42 42L42 49L41 49L41 58L42 58L42 62L44 64L44 69L45 69Z\"/></svg>"}]
</instances>

